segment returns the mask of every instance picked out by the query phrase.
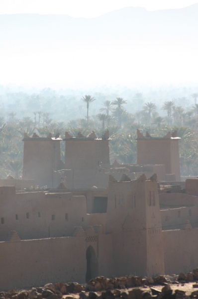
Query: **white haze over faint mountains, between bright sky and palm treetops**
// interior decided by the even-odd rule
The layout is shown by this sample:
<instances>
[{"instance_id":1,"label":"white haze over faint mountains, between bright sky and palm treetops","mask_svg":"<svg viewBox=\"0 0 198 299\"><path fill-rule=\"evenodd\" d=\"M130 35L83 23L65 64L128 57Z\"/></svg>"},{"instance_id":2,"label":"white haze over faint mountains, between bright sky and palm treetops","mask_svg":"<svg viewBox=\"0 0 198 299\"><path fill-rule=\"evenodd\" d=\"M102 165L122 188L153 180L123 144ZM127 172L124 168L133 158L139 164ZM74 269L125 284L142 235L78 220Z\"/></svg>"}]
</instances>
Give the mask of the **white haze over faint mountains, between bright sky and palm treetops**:
<instances>
[{"instance_id":1,"label":"white haze over faint mountains, between bright sky and palm treetops","mask_svg":"<svg viewBox=\"0 0 198 299\"><path fill-rule=\"evenodd\" d=\"M124 7L92 18L3 13L0 85L198 84L198 3Z\"/></svg>"}]
</instances>

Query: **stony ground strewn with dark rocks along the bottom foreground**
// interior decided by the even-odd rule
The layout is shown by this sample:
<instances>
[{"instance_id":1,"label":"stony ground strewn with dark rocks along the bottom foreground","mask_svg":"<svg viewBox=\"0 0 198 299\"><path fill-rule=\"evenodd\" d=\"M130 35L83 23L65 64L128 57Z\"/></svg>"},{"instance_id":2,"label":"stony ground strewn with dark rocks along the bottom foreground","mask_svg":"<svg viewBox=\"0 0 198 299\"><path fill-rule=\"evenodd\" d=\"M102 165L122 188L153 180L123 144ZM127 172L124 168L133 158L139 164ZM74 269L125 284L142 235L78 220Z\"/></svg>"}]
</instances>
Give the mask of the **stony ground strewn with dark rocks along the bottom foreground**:
<instances>
[{"instance_id":1,"label":"stony ground strewn with dark rocks along the bottom foreground","mask_svg":"<svg viewBox=\"0 0 198 299\"><path fill-rule=\"evenodd\" d=\"M0 292L0 299L198 299L198 269L155 278L98 277L87 285L46 284L31 290Z\"/></svg>"}]
</instances>

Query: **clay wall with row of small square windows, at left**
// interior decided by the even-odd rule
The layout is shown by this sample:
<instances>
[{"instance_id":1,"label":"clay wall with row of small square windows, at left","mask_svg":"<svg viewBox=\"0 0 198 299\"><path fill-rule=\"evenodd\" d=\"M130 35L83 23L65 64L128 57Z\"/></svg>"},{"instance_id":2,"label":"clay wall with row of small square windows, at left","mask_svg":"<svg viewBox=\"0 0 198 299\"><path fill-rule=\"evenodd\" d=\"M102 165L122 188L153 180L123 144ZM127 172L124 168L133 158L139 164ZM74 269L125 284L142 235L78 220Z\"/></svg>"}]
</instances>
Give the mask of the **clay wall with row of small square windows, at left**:
<instances>
[{"instance_id":1,"label":"clay wall with row of small square windows, at left","mask_svg":"<svg viewBox=\"0 0 198 299\"><path fill-rule=\"evenodd\" d=\"M14 187L0 187L0 220L0 240L12 230L21 239L71 236L75 226L87 225L86 198L71 193L15 193Z\"/></svg>"}]
</instances>

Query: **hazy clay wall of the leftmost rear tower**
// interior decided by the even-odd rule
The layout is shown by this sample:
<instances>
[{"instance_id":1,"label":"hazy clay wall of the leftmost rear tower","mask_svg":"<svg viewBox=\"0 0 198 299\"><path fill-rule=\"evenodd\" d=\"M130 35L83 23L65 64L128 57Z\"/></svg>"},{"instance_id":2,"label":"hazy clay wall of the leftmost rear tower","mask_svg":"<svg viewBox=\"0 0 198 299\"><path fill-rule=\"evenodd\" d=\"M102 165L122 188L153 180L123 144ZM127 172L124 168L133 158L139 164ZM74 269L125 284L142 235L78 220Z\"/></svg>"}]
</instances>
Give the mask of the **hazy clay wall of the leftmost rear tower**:
<instances>
[{"instance_id":1,"label":"hazy clay wall of the leftmost rear tower","mask_svg":"<svg viewBox=\"0 0 198 299\"><path fill-rule=\"evenodd\" d=\"M60 140L24 140L23 178L53 187L53 170L60 169Z\"/></svg>"}]
</instances>

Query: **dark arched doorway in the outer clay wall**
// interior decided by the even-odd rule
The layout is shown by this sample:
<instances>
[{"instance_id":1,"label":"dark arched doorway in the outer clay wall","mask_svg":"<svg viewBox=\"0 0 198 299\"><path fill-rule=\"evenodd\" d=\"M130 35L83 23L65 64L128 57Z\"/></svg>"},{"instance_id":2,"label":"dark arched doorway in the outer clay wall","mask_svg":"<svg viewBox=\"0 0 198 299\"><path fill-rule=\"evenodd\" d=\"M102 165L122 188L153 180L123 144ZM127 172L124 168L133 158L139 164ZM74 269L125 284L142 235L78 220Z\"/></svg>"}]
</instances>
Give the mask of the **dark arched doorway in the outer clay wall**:
<instances>
[{"instance_id":1,"label":"dark arched doorway in the outer clay wall","mask_svg":"<svg viewBox=\"0 0 198 299\"><path fill-rule=\"evenodd\" d=\"M89 282L92 278L98 276L98 261L97 261L95 250L92 246L89 246L86 251L86 259L87 259L86 282Z\"/></svg>"}]
</instances>

